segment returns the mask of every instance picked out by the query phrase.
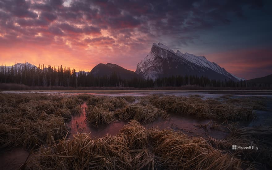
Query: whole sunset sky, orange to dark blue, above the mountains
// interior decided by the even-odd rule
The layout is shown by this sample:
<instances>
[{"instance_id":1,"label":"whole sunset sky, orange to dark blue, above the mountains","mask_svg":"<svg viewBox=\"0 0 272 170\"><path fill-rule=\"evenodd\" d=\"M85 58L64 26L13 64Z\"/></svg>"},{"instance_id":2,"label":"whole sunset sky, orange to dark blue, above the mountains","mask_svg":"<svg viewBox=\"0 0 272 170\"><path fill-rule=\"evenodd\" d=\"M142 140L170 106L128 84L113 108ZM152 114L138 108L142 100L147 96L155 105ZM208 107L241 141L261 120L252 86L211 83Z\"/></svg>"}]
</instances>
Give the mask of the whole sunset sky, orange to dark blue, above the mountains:
<instances>
[{"instance_id":1,"label":"whole sunset sky, orange to dark blue, above the mountains","mask_svg":"<svg viewBox=\"0 0 272 170\"><path fill-rule=\"evenodd\" d=\"M261 0L0 0L0 64L129 70L162 42L238 77L272 74L272 3Z\"/></svg>"}]
</instances>

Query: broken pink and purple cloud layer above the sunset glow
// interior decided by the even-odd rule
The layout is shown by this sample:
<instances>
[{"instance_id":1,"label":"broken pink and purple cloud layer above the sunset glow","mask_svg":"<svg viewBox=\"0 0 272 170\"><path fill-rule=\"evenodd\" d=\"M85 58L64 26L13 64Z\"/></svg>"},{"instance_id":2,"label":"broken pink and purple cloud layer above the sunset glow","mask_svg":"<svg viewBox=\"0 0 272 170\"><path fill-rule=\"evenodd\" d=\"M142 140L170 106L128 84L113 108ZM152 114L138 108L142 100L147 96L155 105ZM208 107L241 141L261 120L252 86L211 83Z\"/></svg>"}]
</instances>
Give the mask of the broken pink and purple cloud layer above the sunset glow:
<instances>
[{"instance_id":1,"label":"broken pink and purple cloud layer above the sunset glow","mask_svg":"<svg viewBox=\"0 0 272 170\"><path fill-rule=\"evenodd\" d=\"M230 25L235 19L246 21L247 10L260 10L267 5L255 0L72 0L69 6L63 3L1 0L0 44L81 50L87 59L99 56L94 61L121 60L133 70L136 63L132 62L139 62L153 42L164 41L176 49L188 47L198 41L203 30ZM133 59L123 61L125 57Z\"/></svg>"}]
</instances>

